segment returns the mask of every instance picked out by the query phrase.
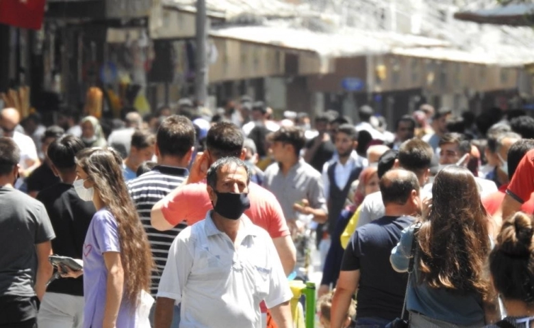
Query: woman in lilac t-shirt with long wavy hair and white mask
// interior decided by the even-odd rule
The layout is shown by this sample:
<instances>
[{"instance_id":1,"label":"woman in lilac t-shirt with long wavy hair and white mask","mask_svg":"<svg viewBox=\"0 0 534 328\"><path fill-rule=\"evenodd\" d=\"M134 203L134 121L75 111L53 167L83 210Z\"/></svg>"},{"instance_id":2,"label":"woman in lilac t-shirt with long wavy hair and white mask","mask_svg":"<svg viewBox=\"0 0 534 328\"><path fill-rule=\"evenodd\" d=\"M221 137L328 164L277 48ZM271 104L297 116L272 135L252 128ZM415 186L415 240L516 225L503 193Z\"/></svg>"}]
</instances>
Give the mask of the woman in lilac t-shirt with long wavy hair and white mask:
<instances>
[{"instance_id":1,"label":"woman in lilac t-shirt with long wavy hair and white mask","mask_svg":"<svg viewBox=\"0 0 534 328\"><path fill-rule=\"evenodd\" d=\"M122 160L111 149L76 156L74 187L97 213L84 243L84 328L134 328L141 290L149 290L152 257L147 235L126 189ZM81 275L68 273L68 276Z\"/></svg>"}]
</instances>

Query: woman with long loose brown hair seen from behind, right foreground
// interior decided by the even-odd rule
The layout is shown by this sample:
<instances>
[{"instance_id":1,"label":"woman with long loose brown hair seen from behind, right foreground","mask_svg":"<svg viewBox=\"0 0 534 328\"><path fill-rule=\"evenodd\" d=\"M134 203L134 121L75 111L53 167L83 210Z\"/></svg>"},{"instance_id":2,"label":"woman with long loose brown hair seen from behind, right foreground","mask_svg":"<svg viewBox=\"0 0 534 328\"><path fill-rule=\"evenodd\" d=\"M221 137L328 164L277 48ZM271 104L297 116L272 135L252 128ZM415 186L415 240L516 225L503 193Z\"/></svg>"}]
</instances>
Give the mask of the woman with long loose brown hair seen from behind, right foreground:
<instances>
[{"instance_id":1,"label":"woman with long loose brown hair seen from behind, right foreground","mask_svg":"<svg viewBox=\"0 0 534 328\"><path fill-rule=\"evenodd\" d=\"M406 308L410 327L481 327L498 319L494 292L485 273L491 247L487 213L474 176L456 165L442 169L432 187L416 235L414 273ZM414 226L392 251L398 272L409 267Z\"/></svg>"}]
</instances>

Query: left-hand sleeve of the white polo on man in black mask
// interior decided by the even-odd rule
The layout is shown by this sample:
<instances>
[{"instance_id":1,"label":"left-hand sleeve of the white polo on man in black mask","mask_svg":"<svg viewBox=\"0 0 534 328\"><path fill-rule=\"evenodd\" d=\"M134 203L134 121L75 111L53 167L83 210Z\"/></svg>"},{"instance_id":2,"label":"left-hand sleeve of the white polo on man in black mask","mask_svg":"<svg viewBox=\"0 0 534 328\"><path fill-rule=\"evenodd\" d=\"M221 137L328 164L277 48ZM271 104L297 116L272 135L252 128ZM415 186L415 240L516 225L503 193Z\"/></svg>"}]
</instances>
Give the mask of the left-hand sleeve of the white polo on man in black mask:
<instances>
[{"instance_id":1,"label":"left-hand sleeve of the white polo on man in black mask","mask_svg":"<svg viewBox=\"0 0 534 328\"><path fill-rule=\"evenodd\" d=\"M186 286L193 265L192 250L189 249L188 244L193 245L194 243L188 242L190 237L186 237L186 235L190 234L190 228L186 229L170 245L167 263L163 269L160 286L157 288L157 297L174 299L175 304L181 302L181 292L183 286Z\"/></svg>"}]
</instances>

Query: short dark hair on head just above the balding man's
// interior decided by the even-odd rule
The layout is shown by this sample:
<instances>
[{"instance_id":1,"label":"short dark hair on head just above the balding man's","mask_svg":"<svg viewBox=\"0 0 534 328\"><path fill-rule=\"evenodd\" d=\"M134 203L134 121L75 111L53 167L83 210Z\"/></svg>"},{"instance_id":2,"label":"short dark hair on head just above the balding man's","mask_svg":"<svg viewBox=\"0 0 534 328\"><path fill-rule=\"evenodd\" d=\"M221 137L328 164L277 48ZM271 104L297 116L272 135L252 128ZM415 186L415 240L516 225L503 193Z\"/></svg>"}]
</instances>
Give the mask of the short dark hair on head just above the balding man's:
<instances>
[{"instance_id":1,"label":"short dark hair on head just above the balding man's","mask_svg":"<svg viewBox=\"0 0 534 328\"><path fill-rule=\"evenodd\" d=\"M419 138L408 139L398 148L399 165L418 176L429 169L432 156L432 147Z\"/></svg>"}]
</instances>

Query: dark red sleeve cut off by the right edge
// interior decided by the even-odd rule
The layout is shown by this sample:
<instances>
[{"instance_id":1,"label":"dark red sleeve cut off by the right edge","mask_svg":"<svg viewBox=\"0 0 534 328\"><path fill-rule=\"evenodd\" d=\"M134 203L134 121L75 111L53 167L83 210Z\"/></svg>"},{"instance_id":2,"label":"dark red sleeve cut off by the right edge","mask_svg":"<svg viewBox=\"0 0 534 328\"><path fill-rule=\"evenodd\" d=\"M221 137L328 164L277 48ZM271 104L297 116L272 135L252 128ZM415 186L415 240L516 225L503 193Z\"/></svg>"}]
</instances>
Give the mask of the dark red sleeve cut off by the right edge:
<instances>
[{"instance_id":1,"label":"dark red sleeve cut off by the right edge","mask_svg":"<svg viewBox=\"0 0 534 328\"><path fill-rule=\"evenodd\" d=\"M534 150L527 152L516 169L506 193L521 204L534 192Z\"/></svg>"}]
</instances>

